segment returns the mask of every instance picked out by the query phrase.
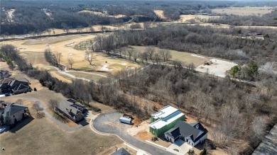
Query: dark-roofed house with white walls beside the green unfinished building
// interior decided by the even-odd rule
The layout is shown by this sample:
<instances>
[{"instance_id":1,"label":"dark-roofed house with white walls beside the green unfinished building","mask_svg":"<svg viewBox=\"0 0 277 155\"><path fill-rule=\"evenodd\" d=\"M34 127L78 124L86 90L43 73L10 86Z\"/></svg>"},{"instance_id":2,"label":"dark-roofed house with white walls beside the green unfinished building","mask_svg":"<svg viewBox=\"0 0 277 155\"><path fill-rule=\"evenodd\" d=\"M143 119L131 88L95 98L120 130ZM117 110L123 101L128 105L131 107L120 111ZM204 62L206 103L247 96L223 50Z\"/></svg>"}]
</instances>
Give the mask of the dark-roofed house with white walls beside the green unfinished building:
<instances>
[{"instance_id":1,"label":"dark-roofed house with white walls beside the green unfinished building","mask_svg":"<svg viewBox=\"0 0 277 155\"><path fill-rule=\"evenodd\" d=\"M165 132L165 139L174 143L179 138L195 147L207 139L207 129L200 122L178 121L172 129Z\"/></svg>"}]
</instances>

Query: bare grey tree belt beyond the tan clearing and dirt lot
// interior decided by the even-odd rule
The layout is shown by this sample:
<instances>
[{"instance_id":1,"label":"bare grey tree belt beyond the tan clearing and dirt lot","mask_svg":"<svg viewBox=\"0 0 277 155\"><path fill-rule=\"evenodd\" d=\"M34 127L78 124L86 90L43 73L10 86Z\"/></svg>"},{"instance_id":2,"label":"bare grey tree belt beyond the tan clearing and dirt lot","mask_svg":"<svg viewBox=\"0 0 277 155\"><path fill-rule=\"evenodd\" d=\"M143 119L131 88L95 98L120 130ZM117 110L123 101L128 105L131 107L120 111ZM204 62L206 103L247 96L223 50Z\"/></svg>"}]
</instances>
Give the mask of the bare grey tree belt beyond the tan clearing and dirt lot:
<instances>
[{"instance_id":1,"label":"bare grey tree belt beyond the tan clearing and dirt lot","mask_svg":"<svg viewBox=\"0 0 277 155\"><path fill-rule=\"evenodd\" d=\"M268 36L264 40L245 38L242 34ZM99 39L98 39L99 40ZM238 63L251 61L265 64L277 59L275 30L220 29L206 26L170 25L142 31L119 31L98 42L99 50L114 50L127 45L154 45L164 49L193 52L231 59ZM97 40L96 40L97 41Z\"/></svg>"}]
</instances>

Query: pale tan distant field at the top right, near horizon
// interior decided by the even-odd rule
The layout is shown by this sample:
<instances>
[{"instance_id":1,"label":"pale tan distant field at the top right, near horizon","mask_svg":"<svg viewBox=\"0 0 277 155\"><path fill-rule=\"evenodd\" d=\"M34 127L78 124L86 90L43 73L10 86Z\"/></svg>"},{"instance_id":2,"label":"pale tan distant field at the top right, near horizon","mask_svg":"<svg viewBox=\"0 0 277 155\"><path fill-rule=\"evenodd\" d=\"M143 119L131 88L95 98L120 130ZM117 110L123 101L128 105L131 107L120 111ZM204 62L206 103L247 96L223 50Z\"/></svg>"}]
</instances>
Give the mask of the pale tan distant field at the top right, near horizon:
<instances>
[{"instance_id":1,"label":"pale tan distant field at the top right, near horizon","mask_svg":"<svg viewBox=\"0 0 277 155\"><path fill-rule=\"evenodd\" d=\"M271 13L273 11L273 7L229 7L229 8L215 8L212 9L214 13L226 13L226 14L234 14L239 16L249 16L249 15L264 15L266 13Z\"/></svg>"}]
</instances>

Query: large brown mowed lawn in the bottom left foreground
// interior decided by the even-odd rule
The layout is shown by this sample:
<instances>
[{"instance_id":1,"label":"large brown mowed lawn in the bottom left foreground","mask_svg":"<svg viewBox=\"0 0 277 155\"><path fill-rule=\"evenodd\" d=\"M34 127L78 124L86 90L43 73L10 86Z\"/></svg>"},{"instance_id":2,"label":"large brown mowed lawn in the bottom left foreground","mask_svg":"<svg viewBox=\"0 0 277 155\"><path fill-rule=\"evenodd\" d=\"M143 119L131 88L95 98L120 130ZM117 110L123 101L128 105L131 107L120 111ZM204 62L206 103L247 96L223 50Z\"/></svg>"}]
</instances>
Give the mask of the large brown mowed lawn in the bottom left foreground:
<instances>
[{"instance_id":1,"label":"large brown mowed lawn in the bottom left foreground","mask_svg":"<svg viewBox=\"0 0 277 155\"><path fill-rule=\"evenodd\" d=\"M67 132L48 117L34 119L13 132L0 135L1 154L97 154L121 144L115 136L103 136L92 132L89 126ZM17 131L16 131L17 130Z\"/></svg>"}]
</instances>

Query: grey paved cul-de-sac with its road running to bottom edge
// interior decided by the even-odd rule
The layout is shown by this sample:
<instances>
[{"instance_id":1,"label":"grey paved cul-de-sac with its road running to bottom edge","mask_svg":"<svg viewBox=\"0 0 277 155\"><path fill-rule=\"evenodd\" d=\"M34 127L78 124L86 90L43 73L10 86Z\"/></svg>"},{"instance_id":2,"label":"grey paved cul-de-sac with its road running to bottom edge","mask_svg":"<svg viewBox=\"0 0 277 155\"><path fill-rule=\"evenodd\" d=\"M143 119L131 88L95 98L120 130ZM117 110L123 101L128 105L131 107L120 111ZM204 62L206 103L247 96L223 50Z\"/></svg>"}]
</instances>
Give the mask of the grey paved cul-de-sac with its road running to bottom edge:
<instances>
[{"instance_id":1,"label":"grey paved cul-de-sac with its road running to bottom edge","mask_svg":"<svg viewBox=\"0 0 277 155\"><path fill-rule=\"evenodd\" d=\"M95 118L92 125L95 130L109 134L116 134L125 142L143 151L147 151L149 154L172 154L168 151L165 151L164 149L153 147L150 144L141 142L139 139L132 137L128 132L126 132L126 130L131 127L131 125L126 125L119 122L119 117L121 116L122 114L117 112L101 114Z\"/></svg>"}]
</instances>

